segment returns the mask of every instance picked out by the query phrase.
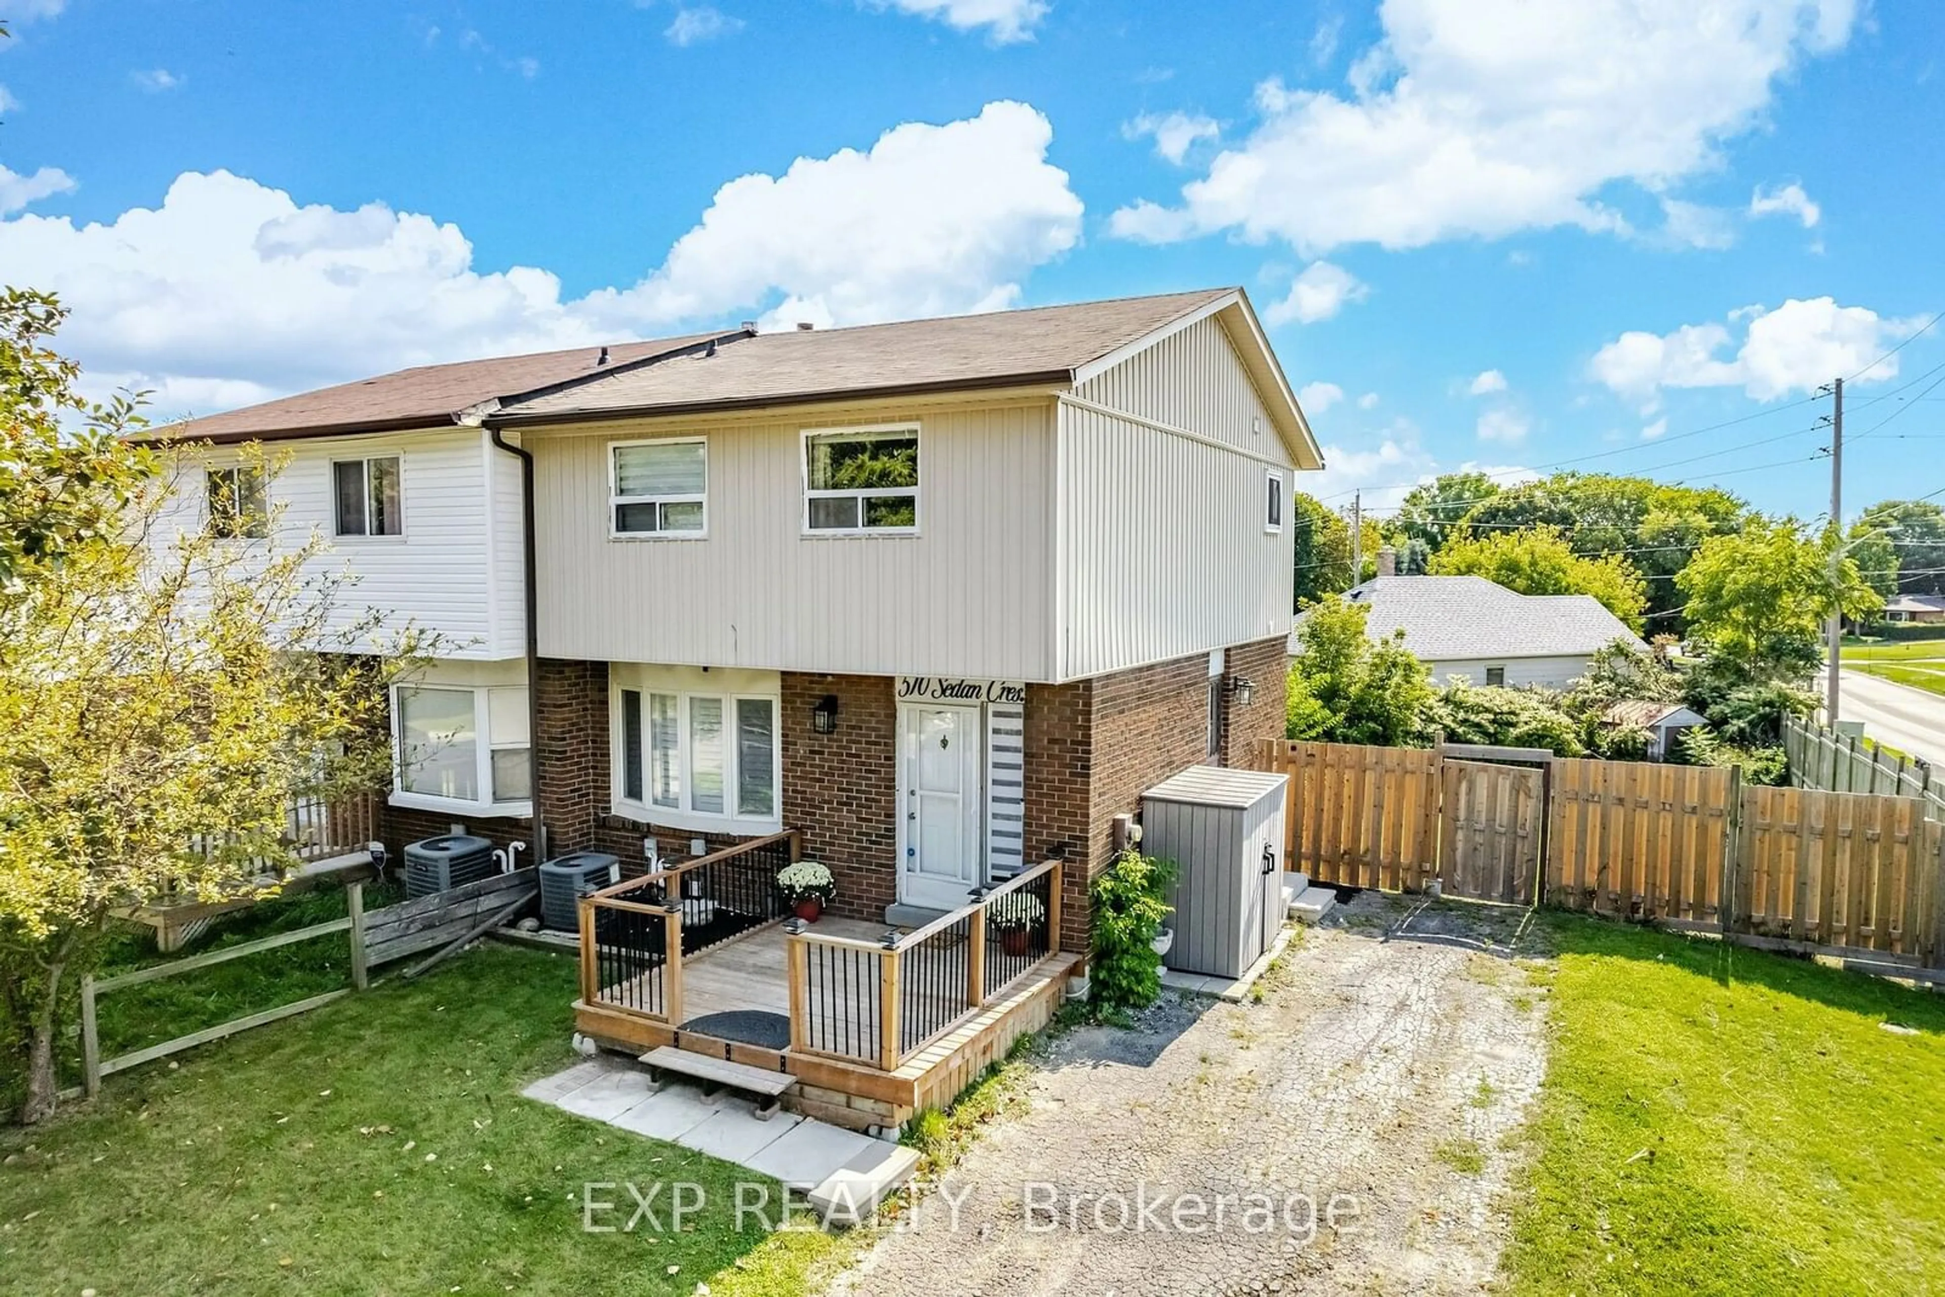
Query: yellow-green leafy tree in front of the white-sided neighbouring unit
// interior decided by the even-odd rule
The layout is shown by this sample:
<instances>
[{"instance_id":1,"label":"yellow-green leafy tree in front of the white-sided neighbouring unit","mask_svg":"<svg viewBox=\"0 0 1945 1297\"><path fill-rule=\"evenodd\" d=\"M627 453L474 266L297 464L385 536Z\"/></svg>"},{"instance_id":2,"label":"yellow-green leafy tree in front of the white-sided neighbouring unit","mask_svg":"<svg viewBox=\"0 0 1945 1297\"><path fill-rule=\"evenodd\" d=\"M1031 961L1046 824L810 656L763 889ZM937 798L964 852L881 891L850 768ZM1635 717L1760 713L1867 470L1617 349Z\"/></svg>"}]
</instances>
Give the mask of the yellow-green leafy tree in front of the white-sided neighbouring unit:
<instances>
[{"instance_id":1,"label":"yellow-green leafy tree in front of the white-sided neighbouring unit","mask_svg":"<svg viewBox=\"0 0 1945 1297\"><path fill-rule=\"evenodd\" d=\"M389 764L385 686L410 659L346 653L375 624L333 616L319 541L181 529L175 471L117 436L132 408L101 414L76 467L37 426L82 408L43 346L58 307L10 296L0 315L4 498L41 527L0 587L0 996L33 1122L111 914L259 893L294 859L294 795L370 788Z\"/></svg>"}]
</instances>

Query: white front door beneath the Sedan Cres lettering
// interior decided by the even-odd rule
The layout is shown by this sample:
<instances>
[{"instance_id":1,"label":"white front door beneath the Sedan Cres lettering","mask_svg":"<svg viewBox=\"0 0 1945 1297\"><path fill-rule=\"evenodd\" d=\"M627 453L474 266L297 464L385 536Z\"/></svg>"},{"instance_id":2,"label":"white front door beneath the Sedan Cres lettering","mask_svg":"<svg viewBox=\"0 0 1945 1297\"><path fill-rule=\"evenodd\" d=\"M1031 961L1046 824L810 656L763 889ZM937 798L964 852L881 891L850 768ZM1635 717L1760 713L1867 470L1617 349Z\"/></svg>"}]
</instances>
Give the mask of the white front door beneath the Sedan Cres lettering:
<instances>
[{"instance_id":1,"label":"white front door beneath the Sedan Cres lettering","mask_svg":"<svg viewBox=\"0 0 1945 1297\"><path fill-rule=\"evenodd\" d=\"M978 708L899 708L899 900L957 910L980 875Z\"/></svg>"}]
</instances>

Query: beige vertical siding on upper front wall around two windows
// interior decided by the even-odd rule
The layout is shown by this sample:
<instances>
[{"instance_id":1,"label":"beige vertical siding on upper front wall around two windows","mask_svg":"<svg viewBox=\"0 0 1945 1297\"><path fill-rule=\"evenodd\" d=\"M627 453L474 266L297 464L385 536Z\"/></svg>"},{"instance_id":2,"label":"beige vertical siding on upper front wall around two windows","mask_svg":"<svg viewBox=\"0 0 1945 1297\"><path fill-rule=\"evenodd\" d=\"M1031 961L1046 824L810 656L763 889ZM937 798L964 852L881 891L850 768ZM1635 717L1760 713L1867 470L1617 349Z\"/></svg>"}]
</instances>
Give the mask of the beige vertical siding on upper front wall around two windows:
<instances>
[{"instance_id":1,"label":"beige vertical siding on upper front wall around two windows","mask_svg":"<svg viewBox=\"0 0 1945 1297\"><path fill-rule=\"evenodd\" d=\"M899 422L881 410L531 436L541 651L1052 679L1052 403L912 416L922 426L916 537L803 535L803 428ZM607 447L648 436L706 438L706 539L609 539Z\"/></svg>"}]
</instances>

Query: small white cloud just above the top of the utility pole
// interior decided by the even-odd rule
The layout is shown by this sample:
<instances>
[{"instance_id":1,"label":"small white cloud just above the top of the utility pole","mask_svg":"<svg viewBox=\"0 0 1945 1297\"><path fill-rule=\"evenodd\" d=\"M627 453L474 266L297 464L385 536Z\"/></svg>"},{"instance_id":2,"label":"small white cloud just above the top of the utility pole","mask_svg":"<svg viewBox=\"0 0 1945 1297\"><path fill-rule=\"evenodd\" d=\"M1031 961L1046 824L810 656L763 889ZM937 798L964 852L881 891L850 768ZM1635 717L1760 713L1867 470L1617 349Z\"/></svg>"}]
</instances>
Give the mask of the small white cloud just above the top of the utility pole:
<instances>
[{"instance_id":1,"label":"small white cloud just above the top of the utility pole","mask_svg":"<svg viewBox=\"0 0 1945 1297\"><path fill-rule=\"evenodd\" d=\"M1898 375L1898 356L1883 356L1922 325L1891 319L1834 298L1791 298L1768 311L1739 307L1727 325L1708 321L1671 333L1630 331L1595 352L1589 373L1609 391L1651 408L1665 387L1741 387L1756 401L1811 393L1834 377L1863 383ZM1735 329L1741 329L1737 338Z\"/></svg>"}]
</instances>

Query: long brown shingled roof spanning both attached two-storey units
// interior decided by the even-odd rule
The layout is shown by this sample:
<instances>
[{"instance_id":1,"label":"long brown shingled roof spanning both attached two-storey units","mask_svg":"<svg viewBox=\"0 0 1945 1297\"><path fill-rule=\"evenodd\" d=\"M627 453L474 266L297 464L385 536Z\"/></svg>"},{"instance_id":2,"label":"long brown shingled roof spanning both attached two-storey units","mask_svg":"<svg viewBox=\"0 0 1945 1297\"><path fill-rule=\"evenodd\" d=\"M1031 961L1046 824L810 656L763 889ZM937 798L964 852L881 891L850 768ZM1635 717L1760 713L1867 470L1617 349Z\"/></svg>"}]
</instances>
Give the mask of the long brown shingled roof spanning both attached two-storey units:
<instances>
[{"instance_id":1,"label":"long brown shingled roof spanning both attached two-storey units","mask_svg":"<svg viewBox=\"0 0 1945 1297\"><path fill-rule=\"evenodd\" d=\"M1317 441L1239 288L1079 301L850 329L718 331L539 356L420 366L214 414L154 436L212 441L387 432L449 422L572 424L646 414L1074 385L1157 336L1220 315L1301 467ZM714 344L714 346L712 346Z\"/></svg>"}]
</instances>

